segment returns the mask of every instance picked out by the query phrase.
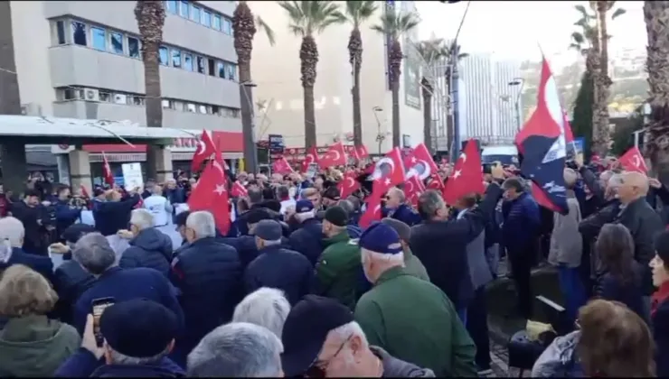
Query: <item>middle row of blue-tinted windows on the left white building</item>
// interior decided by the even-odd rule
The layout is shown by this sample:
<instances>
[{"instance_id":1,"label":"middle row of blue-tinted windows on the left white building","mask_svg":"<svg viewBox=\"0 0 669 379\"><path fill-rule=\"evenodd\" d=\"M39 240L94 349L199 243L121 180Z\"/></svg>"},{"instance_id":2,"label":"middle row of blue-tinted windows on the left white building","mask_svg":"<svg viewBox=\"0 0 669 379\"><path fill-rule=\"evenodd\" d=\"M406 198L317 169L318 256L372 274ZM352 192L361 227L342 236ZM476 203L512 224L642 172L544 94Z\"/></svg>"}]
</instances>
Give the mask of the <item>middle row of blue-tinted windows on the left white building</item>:
<instances>
[{"instance_id":1,"label":"middle row of blue-tinted windows on the left white building","mask_svg":"<svg viewBox=\"0 0 669 379\"><path fill-rule=\"evenodd\" d=\"M108 51L114 54L126 55L130 58L141 59L139 39L123 32L108 30L95 25L88 25L80 21L71 21L71 40L65 32L65 21L55 22L56 43L74 43L87 46L99 51ZM185 51L175 47L160 47L160 64L176 69L186 69L212 77L237 80L237 65L224 60L205 57L192 51Z\"/></svg>"}]
</instances>

